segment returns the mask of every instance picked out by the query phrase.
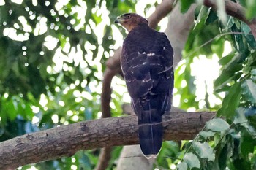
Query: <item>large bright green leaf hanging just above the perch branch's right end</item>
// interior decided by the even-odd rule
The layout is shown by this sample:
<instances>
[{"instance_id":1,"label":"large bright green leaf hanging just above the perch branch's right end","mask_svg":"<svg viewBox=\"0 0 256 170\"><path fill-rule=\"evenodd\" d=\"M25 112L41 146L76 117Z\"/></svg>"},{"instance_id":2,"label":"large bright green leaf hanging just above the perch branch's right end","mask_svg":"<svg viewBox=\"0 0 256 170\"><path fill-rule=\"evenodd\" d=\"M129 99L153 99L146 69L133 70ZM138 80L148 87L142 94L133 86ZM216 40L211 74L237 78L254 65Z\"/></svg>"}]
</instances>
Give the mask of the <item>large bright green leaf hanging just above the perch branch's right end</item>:
<instances>
[{"instance_id":1,"label":"large bright green leaf hanging just above the perch branch's right end","mask_svg":"<svg viewBox=\"0 0 256 170\"><path fill-rule=\"evenodd\" d=\"M241 82L236 82L231 86L225 98L223 98L222 107L218 110L217 116L232 117L238 107L241 97Z\"/></svg>"}]
</instances>

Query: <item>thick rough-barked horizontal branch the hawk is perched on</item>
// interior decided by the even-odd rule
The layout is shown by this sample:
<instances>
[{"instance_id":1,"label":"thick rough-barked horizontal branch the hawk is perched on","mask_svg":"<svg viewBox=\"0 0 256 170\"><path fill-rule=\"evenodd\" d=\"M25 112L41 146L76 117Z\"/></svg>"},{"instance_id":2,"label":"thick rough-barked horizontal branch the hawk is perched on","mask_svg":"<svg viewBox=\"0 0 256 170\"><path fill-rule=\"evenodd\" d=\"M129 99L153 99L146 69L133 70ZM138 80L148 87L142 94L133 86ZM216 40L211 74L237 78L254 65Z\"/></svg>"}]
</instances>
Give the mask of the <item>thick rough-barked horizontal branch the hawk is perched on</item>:
<instances>
[{"instance_id":1,"label":"thick rough-barked horizontal branch the hawk is perched on","mask_svg":"<svg viewBox=\"0 0 256 170\"><path fill-rule=\"evenodd\" d=\"M193 139L215 112L168 113L164 139ZM69 157L78 150L138 144L136 116L110 117L63 125L0 143L0 169Z\"/></svg>"}]
</instances>

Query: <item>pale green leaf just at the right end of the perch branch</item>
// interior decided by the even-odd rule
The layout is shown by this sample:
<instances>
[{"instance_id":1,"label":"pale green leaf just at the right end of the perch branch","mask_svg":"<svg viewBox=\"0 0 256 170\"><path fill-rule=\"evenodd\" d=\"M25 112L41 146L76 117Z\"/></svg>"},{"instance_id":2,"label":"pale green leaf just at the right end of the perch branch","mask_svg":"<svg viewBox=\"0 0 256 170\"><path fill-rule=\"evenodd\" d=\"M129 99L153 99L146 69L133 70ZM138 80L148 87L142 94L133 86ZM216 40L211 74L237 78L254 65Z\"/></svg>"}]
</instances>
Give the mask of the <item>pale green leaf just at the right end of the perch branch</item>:
<instances>
[{"instance_id":1,"label":"pale green leaf just at the right end of the perch branch","mask_svg":"<svg viewBox=\"0 0 256 170\"><path fill-rule=\"evenodd\" d=\"M230 125L221 118L215 118L206 123L206 128L210 129L211 131L223 132L227 131L227 129L230 128Z\"/></svg>"}]
</instances>

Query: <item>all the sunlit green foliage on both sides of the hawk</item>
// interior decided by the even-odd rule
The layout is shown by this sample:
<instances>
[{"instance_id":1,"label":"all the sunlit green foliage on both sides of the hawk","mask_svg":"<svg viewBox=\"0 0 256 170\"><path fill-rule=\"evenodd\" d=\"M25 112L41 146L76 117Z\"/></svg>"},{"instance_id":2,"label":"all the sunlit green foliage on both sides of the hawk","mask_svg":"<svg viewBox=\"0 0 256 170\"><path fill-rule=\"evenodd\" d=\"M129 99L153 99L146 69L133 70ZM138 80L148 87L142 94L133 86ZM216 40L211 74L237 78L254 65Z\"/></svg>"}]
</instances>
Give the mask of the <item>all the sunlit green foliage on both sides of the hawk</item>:
<instances>
[{"instance_id":1,"label":"all the sunlit green foliage on both sides of the hawk","mask_svg":"<svg viewBox=\"0 0 256 170\"><path fill-rule=\"evenodd\" d=\"M181 12L194 2L181 0ZM256 1L238 2L247 18L255 18ZM0 141L99 118L105 61L126 35L113 20L126 12L148 17L159 3L1 0ZM195 9L195 26L176 67L173 104L218 111L226 119L211 120L193 142L165 142L157 169L256 169L256 42L245 23L217 11L201 4ZM129 97L120 77L113 87L111 113L120 116ZM115 147L109 169L120 152ZM80 151L33 167L94 169L98 156L97 149Z\"/></svg>"}]
</instances>

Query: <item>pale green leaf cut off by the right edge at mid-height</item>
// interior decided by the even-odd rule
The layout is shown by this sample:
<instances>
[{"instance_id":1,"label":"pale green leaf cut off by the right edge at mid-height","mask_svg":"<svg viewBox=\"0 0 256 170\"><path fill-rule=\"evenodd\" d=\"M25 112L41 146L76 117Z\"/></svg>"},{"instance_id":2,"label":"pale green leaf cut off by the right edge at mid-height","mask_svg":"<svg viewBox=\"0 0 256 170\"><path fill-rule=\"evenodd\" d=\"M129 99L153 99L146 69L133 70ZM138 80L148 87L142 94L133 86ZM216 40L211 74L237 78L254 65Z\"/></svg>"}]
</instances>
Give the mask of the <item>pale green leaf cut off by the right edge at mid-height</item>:
<instances>
[{"instance_id":1,"label":"pale green leaf cut off by the right edge at mid-height","mask_svg":"<svg viewBox=\"0 0 256 170\"><path fill-rule=\"evenodd\" d=\"M246 96L246 99L252 103L256 103L256 84L252 80L245 80L241 84L242 94Z\"/></svg>"}]
</instances>

